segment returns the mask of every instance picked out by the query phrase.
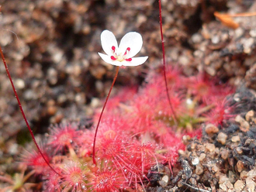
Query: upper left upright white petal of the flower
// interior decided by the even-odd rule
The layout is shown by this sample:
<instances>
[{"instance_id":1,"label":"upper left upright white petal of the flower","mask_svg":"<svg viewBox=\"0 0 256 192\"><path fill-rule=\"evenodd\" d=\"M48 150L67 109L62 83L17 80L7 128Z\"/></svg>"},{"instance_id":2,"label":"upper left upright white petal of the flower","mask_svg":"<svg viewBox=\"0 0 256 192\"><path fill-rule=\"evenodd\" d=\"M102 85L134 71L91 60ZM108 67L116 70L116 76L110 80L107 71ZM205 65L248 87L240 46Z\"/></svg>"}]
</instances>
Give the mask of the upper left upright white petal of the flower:
<instances>
[{"instance_id":1,"label":"upper left upright white petal of the flower","mask_svg":"<svg viewBox=\"0 0 256 192\"><path fill-rule=\"evenodd\" d=\"M116 37L114 34L109 30L104 30L102 31L100 39L102 41L102 49L105 51L105 53L107 55L113 55L112 46L115 46L116 49L118 49Z\"/></svg>"}]
</instances>

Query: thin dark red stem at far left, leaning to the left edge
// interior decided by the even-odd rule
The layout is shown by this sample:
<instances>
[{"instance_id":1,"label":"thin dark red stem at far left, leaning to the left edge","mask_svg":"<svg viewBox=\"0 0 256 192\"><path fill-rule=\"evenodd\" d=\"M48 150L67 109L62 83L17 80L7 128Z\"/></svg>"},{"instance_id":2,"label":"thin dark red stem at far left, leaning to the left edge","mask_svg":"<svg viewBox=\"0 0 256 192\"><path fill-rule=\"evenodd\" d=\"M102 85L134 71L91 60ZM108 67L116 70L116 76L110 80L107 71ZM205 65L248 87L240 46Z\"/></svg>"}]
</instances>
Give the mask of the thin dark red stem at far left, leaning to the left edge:
<instances>
[{"instance_id":1,"label":"thin dark red stem at far left, leaning to the left edge","mask_svg":"<svg viewBox=\"0 0 256 192\"><path fill-rule=\"evenodd\" d=\"M0 54L1 54L1 57L2 57L2 62L3 62L4 65L5 65L5 70L6 70L7 76L9 77L9 81L10 81L11 84L12 84L12 90L13 90L13 92L14 92L14 94L15 94L16 100L18 101L19 109L20 109L20 111L21 111L21 113L22 113L23 119L24 119L25 122L26 122L27 128L29 129L30 135L32 136L33 142L35 143L36 148L38 149L39 153L40 153L41 156L43 157L43 160L45 161L45 163L47 163L47 165L50 167L51 170L53 170L55 173L57 173L57 171L54 170L54 167L51 166L50 163L47 161L47 159L46 159L45 156L43 155L43 153L42 153L40 147L38 146L38 144L37 144L37 142L36 142L36 139L35 139L35 136L34 136L34 134L33 134L33 131L32 131L32 129L30 128L29 122L28 122L27 119L26 119L26 115L25 115L25 113L24 113L24 111L23 111L21 102L19 101L19 96L18 96L18 94L17 94L16 87L15 87L14 84L13 84L11 74L10 74L9 69L8 69L8 67L7 67L7 64L6 64L6 60L5 60L4 53L2 53L2 47L1 47L1 46L0 46ZM57 174L60 175L59 173L57 173Z\"/></svg>"}]
</instances>

